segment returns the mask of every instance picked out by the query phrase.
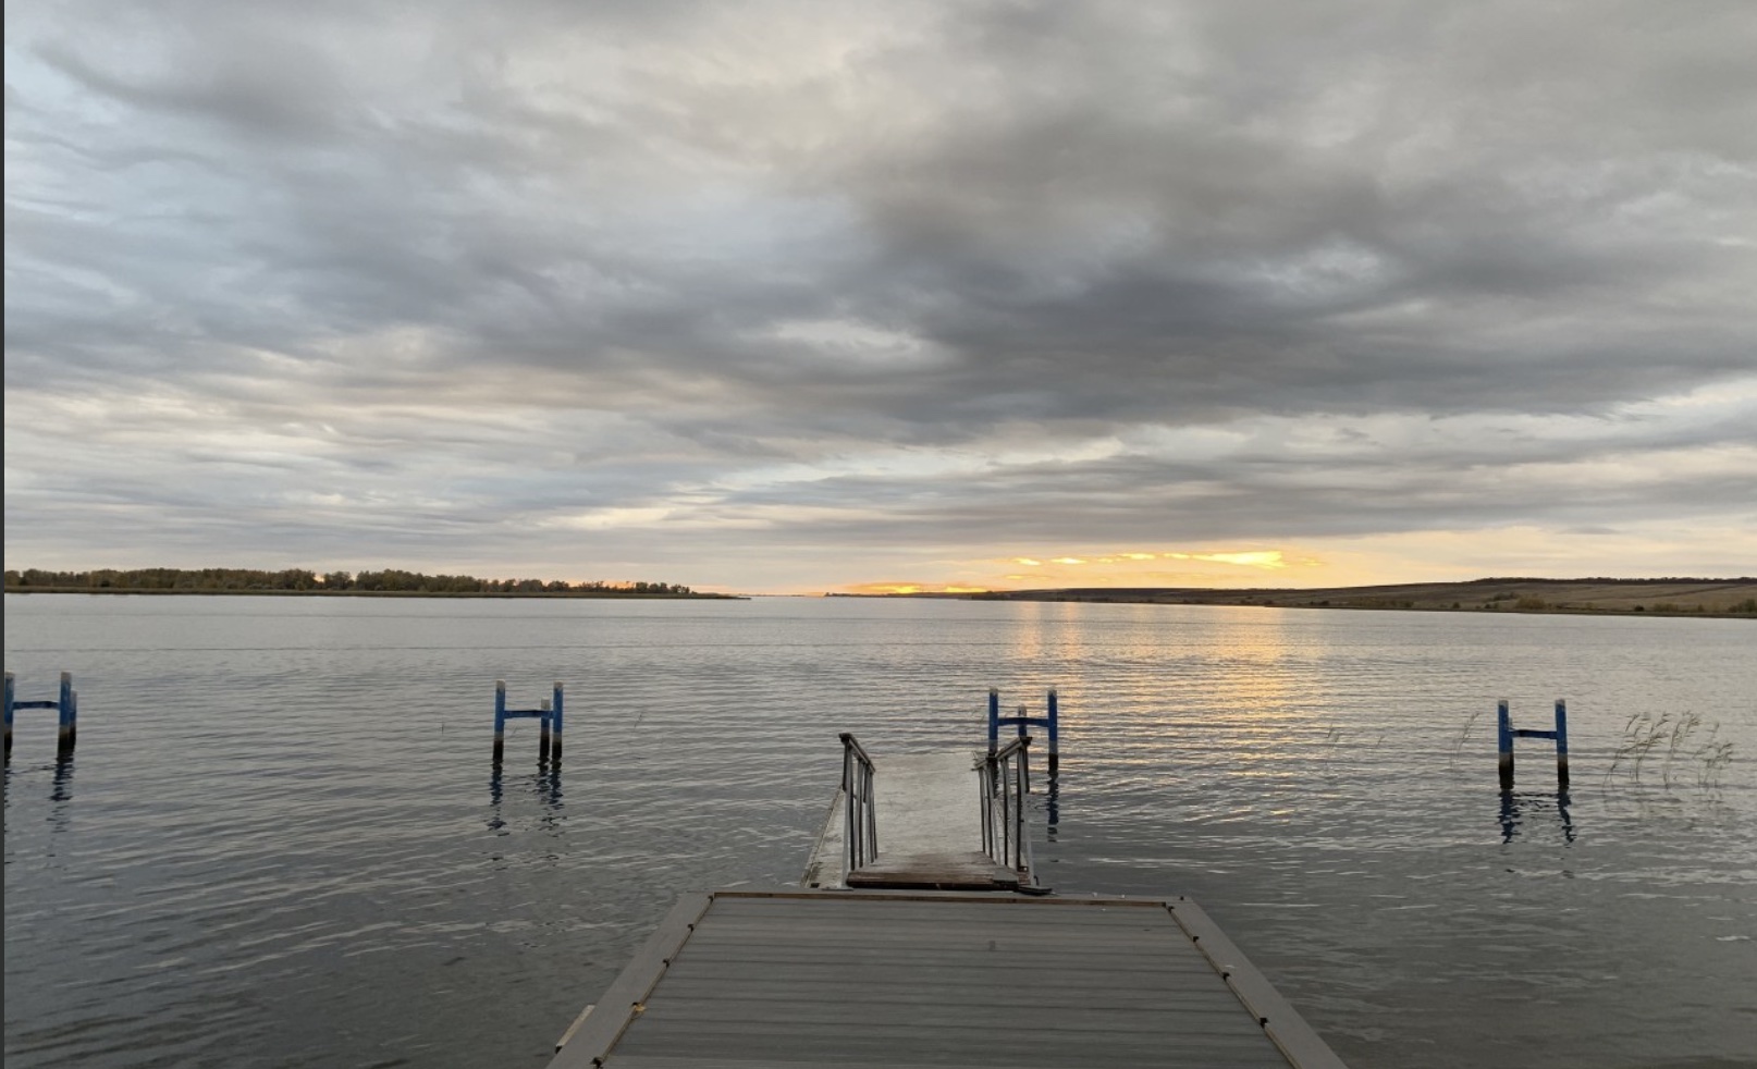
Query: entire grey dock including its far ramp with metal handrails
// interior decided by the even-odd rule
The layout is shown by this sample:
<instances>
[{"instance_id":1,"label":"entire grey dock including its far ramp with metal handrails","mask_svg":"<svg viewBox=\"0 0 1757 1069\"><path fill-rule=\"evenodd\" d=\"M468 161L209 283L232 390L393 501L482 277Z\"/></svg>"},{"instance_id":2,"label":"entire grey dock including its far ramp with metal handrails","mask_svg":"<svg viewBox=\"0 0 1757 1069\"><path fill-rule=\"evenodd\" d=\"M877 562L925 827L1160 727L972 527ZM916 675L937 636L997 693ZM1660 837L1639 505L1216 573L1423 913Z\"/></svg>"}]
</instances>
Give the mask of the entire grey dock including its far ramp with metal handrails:
<instances>
[{"instance_id":1,"label":"entire grey dock including its far ramp with metal handrails","mask_svg":"<svg viewBox=\"0 0 1757 1069\"><path fill-rule=\"evenodd\" d=\"M683 895L550 1069L1344 1069L1195 902L1037 886L1028 747L843 735L801 886Z\"/></svg>"}]
</instances>

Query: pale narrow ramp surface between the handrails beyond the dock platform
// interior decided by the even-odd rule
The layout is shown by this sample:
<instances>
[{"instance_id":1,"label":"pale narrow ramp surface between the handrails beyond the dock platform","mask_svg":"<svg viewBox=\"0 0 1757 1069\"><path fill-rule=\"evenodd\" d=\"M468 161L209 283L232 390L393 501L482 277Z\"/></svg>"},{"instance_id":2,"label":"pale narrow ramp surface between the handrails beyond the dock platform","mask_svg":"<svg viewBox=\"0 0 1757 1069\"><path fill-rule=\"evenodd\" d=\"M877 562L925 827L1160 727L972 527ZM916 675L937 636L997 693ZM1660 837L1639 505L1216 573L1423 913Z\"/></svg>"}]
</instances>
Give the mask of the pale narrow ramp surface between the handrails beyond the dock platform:
<instances>
[{"instance_id":1,"label":"pale narrow ramp surface between the handrails beyond the dock platform","mask_svg":"<svg viewBox=\"0 0 1757 1069\"><path fill-rule=\"evenodd\" d=\"M1019 874L982 853L979 749L873 758L878 856L843 872L847 798L838 791L817 849L799 881L806 888L1014 890Z\"/></svg>"}]
</instances>

